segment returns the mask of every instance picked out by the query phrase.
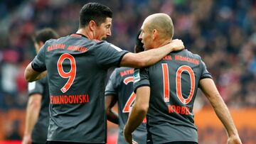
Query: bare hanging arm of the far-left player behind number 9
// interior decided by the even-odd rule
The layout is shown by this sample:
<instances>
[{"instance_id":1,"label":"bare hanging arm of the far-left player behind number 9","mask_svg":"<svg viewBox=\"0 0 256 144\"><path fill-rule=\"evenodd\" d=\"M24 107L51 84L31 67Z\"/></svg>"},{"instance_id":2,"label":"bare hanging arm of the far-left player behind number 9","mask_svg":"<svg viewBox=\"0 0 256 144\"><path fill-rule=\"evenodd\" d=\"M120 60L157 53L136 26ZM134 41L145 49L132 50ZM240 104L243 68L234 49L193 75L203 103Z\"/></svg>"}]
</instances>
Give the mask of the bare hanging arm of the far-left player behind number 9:
<instances>
[{"instance_id":1,"label":"bare hanging arm of the far-left player behind number 9","mask_svg":"<svg viewBox=\"0 0 256 144\"><path fill-rule=\"evenodd\" d=\"M41 109L41 94L32 94L28 98L28 105L26 108L26 123L25 123L25 131L22 140L22 144L30 144L32 143L31 133L33 131L33 127L38 120L39 111Z\"/></svg>"}]
</instances>

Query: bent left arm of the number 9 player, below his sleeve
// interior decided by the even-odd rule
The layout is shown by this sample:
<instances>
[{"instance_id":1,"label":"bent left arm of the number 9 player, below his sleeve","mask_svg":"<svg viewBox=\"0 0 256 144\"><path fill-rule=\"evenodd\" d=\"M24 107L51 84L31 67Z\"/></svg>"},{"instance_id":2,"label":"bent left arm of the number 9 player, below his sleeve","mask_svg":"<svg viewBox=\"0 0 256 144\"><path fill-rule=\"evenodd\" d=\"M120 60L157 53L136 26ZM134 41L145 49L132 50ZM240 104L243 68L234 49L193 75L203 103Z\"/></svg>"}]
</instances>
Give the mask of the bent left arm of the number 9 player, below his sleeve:
<instances>
[{"instance_id":1,"label":"bent left arm of the number 9 player, below his sleeve","mask_svg":"<svg viewBox=\"0 0 256 144\"><path fill-rule=\"evenodd\" d=\"M32 62L31 62L32 63ZM43 77L46 77L47 72L36 72L35 70L33 70L31 63L28 64L28 66L26 67L26 70L24 72L24 77L26 79L27 82L33 82L36 81L38 79L42 79Z\"/></svg>"}]
</instances>

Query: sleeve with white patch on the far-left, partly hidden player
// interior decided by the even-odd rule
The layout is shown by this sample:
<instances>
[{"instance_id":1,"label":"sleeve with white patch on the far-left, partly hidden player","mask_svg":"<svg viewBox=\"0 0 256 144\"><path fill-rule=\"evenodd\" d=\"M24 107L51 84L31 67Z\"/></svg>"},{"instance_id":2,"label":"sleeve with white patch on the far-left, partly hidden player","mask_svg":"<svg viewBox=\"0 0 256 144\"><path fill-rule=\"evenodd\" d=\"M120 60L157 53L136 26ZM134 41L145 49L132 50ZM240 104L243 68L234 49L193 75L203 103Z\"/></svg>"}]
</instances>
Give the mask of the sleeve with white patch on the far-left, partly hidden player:
<instances>
[{"instance_id":1,"label":"sleeve with white patch on the far-left, partly hidden player","mask_svg":"<svg viewBox=\"0 0 256 144\"><path fill-rule=\"evenodd\" d=\"M43 83L41 80L28 82L28 96L32 94L43 94Z\"/></svg>"}]
</instances>

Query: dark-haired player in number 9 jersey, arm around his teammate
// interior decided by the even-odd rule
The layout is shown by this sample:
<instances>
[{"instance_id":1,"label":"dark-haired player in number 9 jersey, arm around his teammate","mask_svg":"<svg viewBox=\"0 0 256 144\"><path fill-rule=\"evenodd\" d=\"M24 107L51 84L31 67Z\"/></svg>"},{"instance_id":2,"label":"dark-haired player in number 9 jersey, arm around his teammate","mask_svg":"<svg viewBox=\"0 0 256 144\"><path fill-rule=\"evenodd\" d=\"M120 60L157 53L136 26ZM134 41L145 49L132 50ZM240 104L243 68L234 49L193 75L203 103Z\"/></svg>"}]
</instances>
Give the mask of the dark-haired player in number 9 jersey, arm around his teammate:
<instances>
[{"instance_id":1,"label":"dark-haired player in number 9 jersey, arm around his teammate","mask_svg":"<svg viewBox=\"0 0 256 144\"><path fill-rule=\"evenodd\" d=\"M99 3L80 10L76 33L48 40L25 70L28 82L47 70L50 124L47 143L106 143L105 79L110 67L146 67L173 50L181 40L134 54L102 41L111 35L112 11Z\"/></svg>"}]
</instances>

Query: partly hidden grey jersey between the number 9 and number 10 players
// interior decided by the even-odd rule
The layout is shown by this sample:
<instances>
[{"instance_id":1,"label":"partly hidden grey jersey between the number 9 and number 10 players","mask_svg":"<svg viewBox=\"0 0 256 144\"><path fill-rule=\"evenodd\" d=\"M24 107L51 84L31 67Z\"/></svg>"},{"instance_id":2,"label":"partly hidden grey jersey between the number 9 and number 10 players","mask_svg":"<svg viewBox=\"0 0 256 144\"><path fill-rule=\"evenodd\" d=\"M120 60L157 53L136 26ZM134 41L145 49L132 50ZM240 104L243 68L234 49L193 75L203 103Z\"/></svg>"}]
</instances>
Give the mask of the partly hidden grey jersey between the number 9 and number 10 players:
<instances>
[{"instance_id":1,"label":"partly hidden grey jersey between the number 9 and number 10 players","mask_svg":"<svg viewBox=\"0 0 256 144\"><path fill-rule=\"evenodd\" d=\"M124 140L123 129L127 123L129 112L132 110L132 105L136 99L136 94L133 92L133 74L134 69L130 67L116 68L110 76L105 89L105 95L116 96L118 104L118 118L119 118L119 135L117 143L127 143ZM145 118L146 120L146 118ZM133 139L137 143L146 143L146 121L134 131Z\"/></svg>"}]
</instances>

